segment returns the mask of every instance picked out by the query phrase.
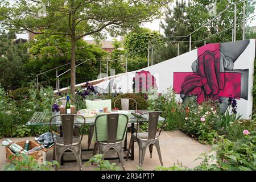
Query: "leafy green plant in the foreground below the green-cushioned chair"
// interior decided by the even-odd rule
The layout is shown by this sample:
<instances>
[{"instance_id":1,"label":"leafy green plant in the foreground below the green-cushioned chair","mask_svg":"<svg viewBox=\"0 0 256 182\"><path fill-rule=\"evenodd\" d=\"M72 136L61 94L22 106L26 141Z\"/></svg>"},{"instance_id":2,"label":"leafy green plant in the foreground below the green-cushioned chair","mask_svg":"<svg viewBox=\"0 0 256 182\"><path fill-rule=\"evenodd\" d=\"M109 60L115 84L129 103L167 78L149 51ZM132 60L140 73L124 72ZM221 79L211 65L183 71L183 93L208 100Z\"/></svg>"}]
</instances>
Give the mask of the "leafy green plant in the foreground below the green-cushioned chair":
<instances>
[{"instance_id":1,"label":"leafy green plant in the foreground below the green-cushioned chair","mask_svg":"<svg viewBox=\"0 0 256 182\"><path fill-rule=\"evenodd\" d=\"M119 171L120 168L117 164L112 163L110 164L108 160L103 160L104 155L98 154L94 155L90 160L86 163L86 166L89 164L94 164L96 166L96 171Z\"/></svg>"}]
</instances>

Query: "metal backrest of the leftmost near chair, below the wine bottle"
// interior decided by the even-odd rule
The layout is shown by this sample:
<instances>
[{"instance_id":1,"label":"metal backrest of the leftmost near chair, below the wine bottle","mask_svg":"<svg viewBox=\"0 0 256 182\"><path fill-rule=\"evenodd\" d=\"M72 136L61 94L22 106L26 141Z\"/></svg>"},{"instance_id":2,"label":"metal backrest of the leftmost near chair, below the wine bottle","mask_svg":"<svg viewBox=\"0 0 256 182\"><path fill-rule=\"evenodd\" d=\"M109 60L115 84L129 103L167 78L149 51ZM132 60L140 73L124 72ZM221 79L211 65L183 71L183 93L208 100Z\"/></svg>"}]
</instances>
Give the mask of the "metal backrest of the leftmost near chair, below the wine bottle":
<instances>
[{"instance_id":1,"label":"metal backrest of the leftmost near chair, below the wine bottle","mask_svg":"<svg viewBox=\"0 0 256 182\"><path fill-rule=\"evenodd\" d=\"M85 118L82 115L79 114L60 114L55 115L52 117L49 121L49 126L53 138L53 132L52 132L52 119L55 117L61 118L61 125L62 125L62 133L63 133L63 144L64 145L70 145L73 142L73 126L75 117L82 117L84 119L84 125L85 125ZM80 134L80 141L81 141L82 134Z\"/></svg>"}]
</instances>

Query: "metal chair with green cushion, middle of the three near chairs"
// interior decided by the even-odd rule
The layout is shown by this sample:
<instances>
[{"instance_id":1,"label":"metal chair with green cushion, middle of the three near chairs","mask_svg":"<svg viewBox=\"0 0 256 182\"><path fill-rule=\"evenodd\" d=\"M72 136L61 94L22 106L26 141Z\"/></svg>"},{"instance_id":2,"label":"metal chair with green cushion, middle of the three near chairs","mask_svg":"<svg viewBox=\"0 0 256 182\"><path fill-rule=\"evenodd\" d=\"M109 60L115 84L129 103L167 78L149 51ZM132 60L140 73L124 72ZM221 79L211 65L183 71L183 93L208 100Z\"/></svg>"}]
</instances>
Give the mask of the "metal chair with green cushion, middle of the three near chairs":
<instances>
[{"instance_id":1,"label":"metal chair with green cushion, middle of the three near chairs","mask_svg":"<svg viewBox=\"0 0 256 182\"><path fill-rule=\"evenodd\" d=\"M106 115L106 125L105 129L107 130L106 137L98 137L98 127L101 127L101 132L102 132L102 121L100 121L101 117L104 117ZM125 122L122 123L123 127L119 127L119 116L123 115L125 116ZM122 168L125 171L125 165L124 165L124 159L123 159L123 148L122 148L122 140L125 138L126 134L126 129L127 129L127 124L128 124L128 117L125 114L103 114L99 115L96 120L95 120L95 132L94 134L96 135L96 142L94 144L94 149L93 149L93 155L96 154L97 147L98 151L100 154L105 155L106 152L110 148L114 148L115 151L117 151L119 162L121 162ZM123 122L123 121L120 121ZM118 133L122 133L122 136L118 136ZM103 159L104 160L104 159Z\"/></svg>"}]
</instances>

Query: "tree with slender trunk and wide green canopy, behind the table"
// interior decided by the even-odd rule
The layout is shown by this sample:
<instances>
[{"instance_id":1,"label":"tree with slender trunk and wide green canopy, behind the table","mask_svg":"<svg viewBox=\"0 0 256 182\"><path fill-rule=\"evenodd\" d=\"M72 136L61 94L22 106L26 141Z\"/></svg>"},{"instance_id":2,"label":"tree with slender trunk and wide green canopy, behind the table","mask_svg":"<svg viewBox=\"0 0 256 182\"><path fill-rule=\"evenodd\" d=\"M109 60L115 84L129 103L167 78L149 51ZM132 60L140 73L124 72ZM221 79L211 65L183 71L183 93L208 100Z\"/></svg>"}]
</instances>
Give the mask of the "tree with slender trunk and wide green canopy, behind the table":
<instances>
[{"instance_id":1,"label":"tree with slender trunk and wide green canopy, behind the table","mask_svg":"<svg viewBox=\"0 0 256 182\"><path fill-rule=\"evenodd\" d=\"M76 42L86 35L121 34L161 15L168 0L0 0L0 24L33 34L65 35L71 41L71 90L75 97ZM40 5L40 6L38 6ZM44 12L45 10L45 12ZM42 16L43 15L43 16Z\"/></svg>"}]
</instances>

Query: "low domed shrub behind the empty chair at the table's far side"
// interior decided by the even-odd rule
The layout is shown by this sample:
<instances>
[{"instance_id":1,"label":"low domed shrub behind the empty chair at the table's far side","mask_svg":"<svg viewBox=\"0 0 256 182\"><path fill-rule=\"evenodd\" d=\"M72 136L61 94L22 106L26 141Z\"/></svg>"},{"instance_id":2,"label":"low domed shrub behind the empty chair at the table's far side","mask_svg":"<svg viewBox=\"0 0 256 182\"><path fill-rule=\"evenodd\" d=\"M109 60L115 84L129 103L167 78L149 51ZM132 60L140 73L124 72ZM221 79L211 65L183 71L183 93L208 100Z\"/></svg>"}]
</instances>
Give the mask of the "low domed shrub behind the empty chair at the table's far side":
<instances>
[{"instance_id":1,"label":"low domed shrub behind the empty chair at the table's far side","mask_svg":"<svg viewBox=\"0 0 256 182\"><path fill-rule=\"evenodd\" d=\"M118 98L133 98L135 101L137 101L138 104L138 109L147 109L148 102L146 100L144 100L144 98L142 96L139 96L138 94L134 94L134 93L125 93L125 94L120 94L117 97L114 97L112 100L112 108L114 108L114 101L117 100ZM130 108L129 109L136 109L136 104L134 101L129 102ZM121 100L117 101L115 103L115 107L117 107L118 109L121 109Z\"/></svg>"}]
</instances>

